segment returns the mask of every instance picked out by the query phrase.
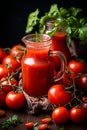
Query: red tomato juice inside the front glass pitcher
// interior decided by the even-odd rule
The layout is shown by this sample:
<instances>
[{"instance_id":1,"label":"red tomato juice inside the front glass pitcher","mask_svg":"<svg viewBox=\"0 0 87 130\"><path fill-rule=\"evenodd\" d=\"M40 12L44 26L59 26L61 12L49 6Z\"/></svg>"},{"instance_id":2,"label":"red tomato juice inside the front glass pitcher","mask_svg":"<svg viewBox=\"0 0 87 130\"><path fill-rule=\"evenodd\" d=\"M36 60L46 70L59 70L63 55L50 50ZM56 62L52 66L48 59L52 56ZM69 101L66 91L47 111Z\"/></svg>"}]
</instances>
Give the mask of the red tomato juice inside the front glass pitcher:
<instances>
[{"instance_id":1,"label":"red tomato juice inside the front glass pitcher","mask_svg":"<svg viewBox=\"0 0 87 130\"><path fill-rule=\"evenodd\" d=\"M48 59L48 51L29 50L22 60L23 88L29 95L47 94L53 78L53 64Z\"/></svg>"}]
</instances>

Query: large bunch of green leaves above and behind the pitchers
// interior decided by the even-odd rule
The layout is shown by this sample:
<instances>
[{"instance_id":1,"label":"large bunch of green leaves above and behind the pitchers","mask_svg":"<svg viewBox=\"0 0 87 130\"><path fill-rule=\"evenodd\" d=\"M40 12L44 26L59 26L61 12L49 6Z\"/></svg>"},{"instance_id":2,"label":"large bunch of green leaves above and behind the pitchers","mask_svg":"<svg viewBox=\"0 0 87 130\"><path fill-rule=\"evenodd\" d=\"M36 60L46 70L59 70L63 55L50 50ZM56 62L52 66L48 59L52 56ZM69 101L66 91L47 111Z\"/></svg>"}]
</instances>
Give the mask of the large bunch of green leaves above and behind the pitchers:
<instances>
[{"instance_id":1,"label":"large bunch of green leaves above and behind the pitchers","mask_svg":"<svg viewBox=\"0 0 87 130\"><path fill-rule=\"evenodd\" d=\"M35 25L39 25L39 33L44 33L46 21L55 20L54 27L48 35L53 36L61 24L65 27L67 33L67 43L70 44L72 38L78 38L87 43L87 18L83 17L82 9L70 7L58 7L57 4L51 5L48 12L41 18L38 18L39 9L29 14L26 26L26 33L30 33ZM61 18L62 20L59 20Z\"/></svg>"}]
</instances>

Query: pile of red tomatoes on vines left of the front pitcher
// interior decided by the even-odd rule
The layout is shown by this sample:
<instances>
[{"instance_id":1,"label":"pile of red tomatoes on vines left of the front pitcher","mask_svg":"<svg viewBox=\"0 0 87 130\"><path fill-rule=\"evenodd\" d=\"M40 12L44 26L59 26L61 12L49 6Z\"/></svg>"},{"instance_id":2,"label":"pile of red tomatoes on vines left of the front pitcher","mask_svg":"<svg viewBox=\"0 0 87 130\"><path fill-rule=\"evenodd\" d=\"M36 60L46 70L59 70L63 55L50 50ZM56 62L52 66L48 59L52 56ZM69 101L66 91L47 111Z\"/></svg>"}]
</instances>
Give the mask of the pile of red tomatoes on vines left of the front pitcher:
<instances>
[{"instance_id":1,"label":"pile of red tomatoes on vines left of the front pitcher","mask_svg":"<svg viewBox=\"0 0 87 130\"><path fill-rule=\"evenodd\" d=\"M0 48L0 108L6 105L18 110L26 102L24 94L18 91L19 81L16 78L25 51L25 47L20 44L12 48Z\"/></svg>"}]
</instances>

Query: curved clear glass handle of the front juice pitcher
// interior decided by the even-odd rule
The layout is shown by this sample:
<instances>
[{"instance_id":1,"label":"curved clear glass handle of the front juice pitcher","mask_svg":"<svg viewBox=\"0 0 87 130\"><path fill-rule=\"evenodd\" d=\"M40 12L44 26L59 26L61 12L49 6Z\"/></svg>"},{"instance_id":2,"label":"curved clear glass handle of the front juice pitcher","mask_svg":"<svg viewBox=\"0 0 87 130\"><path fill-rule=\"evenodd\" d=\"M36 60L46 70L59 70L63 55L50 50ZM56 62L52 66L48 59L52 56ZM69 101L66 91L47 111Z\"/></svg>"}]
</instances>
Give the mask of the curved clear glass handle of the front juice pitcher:
<instances>
[{"instance_id":1,"label":"curved clear glass handle of the front juice pitcher","mask_svg":"<svg viewBox=\"0 0 87 130\"><path fill-rule=\"evenodd\" d=\"M50 50L49 51L49 56L51 56L51 57L58 56L58 58L61 61L61 69L57 73L57 75L54 75L54 82L56 82L56 81L59 81L60 79L62 79L63 74L64 74L64 72L66 70L66 67L67 67L67 60L66 60L65 55L62 52L60 52L60 51Z\"/></svg>"}]
</instances>

